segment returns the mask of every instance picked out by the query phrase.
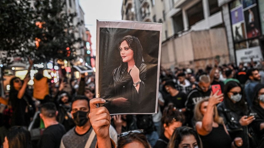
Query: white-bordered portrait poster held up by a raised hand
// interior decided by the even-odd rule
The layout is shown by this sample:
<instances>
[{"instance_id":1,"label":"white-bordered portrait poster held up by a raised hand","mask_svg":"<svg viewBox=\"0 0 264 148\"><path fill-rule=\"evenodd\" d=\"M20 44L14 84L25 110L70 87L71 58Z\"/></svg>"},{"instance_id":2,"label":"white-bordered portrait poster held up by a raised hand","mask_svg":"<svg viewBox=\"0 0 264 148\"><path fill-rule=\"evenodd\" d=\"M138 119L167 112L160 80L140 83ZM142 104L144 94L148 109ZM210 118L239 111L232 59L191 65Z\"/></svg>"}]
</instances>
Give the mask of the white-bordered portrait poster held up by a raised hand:
<instances>
[{"instance_id":1,"label":"white-bordered portrait poster held up by a raised hand","mask_svg":"<svg viewBox=\"0 0 264 148\"><path fill-rule=\"evenodd\" d=\"M97 20L96 97L110 114L157 113L161 23Z\"/></svg>"}]
</instances>

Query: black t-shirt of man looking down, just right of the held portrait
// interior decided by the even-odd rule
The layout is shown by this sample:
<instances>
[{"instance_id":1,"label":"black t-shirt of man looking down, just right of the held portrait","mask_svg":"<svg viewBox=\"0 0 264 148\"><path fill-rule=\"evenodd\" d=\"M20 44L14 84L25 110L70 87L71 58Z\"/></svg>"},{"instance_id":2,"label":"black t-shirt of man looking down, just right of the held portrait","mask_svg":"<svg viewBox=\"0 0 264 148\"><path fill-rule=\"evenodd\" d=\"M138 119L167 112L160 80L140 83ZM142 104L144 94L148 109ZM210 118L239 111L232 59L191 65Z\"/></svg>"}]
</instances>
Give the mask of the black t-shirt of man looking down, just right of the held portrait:
<instances>
[{"instance_id":1,"label":"black t-shirt of man looking down, just right of the held portrait","mask_svg":"<svg viewBox=\"0 0 264 148\"><path fill-rule=\"evenodd\" d=\"M177 109L184 108L187 95L183 92L179 92L176 96L171 96L170 94L165 98L164 106L167 106L169 103L173 103Z\"/></svg>"}]
</instances>

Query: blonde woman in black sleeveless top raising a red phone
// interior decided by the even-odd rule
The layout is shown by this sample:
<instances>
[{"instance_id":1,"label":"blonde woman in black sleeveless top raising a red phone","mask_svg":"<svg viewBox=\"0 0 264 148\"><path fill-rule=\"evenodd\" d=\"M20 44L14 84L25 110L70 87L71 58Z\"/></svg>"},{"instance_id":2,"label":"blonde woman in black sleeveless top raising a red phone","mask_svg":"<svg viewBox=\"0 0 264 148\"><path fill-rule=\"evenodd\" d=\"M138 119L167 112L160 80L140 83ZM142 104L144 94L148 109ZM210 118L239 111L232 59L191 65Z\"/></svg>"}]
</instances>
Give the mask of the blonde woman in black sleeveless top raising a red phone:
<instances>
[{"instance_id":1,"label":"blonde woman in black sleeveless top raising a red phone","mask_svg":"<svg viewBox=\"0 0 264 148\"><path fill-rule=\"evenodd\" d=\"M218 90L219 91L219 90ZM236 148L243 140L237 137L232 142L223 118L219 117L216 105L224 99L223 94L211 94L209 99L200 100L195 106L196 130L202 139L203 148Z\"/></svg>"}]
</instances>

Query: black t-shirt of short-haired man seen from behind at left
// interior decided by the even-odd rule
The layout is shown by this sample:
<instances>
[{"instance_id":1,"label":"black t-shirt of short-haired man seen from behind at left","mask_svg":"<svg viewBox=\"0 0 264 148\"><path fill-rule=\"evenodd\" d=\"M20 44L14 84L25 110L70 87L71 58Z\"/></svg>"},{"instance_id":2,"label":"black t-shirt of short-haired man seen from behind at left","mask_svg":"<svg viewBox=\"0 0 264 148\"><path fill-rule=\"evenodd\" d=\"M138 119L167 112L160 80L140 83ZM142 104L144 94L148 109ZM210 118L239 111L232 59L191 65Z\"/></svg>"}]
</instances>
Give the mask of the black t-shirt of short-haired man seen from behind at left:
<instances>
[{"instance_id":1,"label":"black t-shirt of short-haired man seen from behind at left","mask_svg":"<svg viewBox=\"0 0 264 148\"><path fill-rule=\"evenodd\" d=\"M59 148L62 136L66 133L62 124L47 127L40 137L38 147Z\"/></svg>"}]
</instances>

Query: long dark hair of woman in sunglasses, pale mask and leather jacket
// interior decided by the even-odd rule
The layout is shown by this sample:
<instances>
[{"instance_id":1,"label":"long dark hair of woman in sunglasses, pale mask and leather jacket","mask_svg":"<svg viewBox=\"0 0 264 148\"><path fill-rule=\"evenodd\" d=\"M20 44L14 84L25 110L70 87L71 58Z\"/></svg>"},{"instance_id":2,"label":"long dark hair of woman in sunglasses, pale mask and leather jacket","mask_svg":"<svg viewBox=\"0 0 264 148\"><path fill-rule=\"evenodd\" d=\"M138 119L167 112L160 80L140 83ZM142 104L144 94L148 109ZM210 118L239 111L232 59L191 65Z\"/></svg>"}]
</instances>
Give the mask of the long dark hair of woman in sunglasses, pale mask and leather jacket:
<instances>
[{"instance_id":1,"label":"long dark hair of woman in sunglasses, pale mask and leather jacket","mask_svg":"<svg viewBox=\"0 0 264 148\"><path fill-rule=\"evenodd\" d=\"M237 110L237 107L235 106L235 104L232 102L232 100L228 96L228 92L230 92L232 88L237 87L237 86L241 88L241 94L242 94L242 99L239 102L237 102L237 105L240 107L239 110L243 109L245 111L247 110L247 106L245 104L245 98L244 98L245 95L243 94L243 89L241 85L236 81L229 81L224 86L224 103L228 105L231 110L233 111Z\"/></svg>"}]
</instances>

